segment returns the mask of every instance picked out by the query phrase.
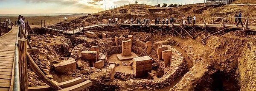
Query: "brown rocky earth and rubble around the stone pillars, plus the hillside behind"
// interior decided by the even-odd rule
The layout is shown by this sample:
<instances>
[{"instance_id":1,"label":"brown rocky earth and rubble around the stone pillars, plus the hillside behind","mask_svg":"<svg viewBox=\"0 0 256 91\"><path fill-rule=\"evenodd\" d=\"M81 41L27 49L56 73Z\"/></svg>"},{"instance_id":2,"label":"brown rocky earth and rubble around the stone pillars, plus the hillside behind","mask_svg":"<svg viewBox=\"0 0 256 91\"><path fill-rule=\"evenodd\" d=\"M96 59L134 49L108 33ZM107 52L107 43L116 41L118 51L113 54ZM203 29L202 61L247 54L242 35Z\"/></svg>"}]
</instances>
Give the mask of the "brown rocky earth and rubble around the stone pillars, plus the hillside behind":
<instances>
[{"instance_id":1,"label":"brown rocky earth and rubble around the stone pillars, plus the hillside behind","mask_svg":"<svg viewBox=\"0 0 256 91\"><path fill-rule=\"evenodd\" d=\"M254 0L236 0L233 3L256 3ZM134 7L134 8L131 8ZM182 15L196 15L197 17L233 17L239 11L243 11L244 17L254 17L255 12L251 11L255 6L246 5L222 5L207 6L204 4L191 4L173 8L155 8L154 6L131 4L97 13L99 17L80 17L60 26L71 26L70 23L81 21L96 24L102 19L109 17L120 17L130 19L131 17L151 18L167 17L169 15L179 18ZM167 12L167 13L166 13ZM200 21L200 19L199 19ZM249 25L256 25L256 20L250 19ZM233 22L227 18L226 23ZM215 29L215 28L212 28ZM38 30L40 31L40 30ZM88 30L85 30L85 32ZM111 82L111 89L115 91L253 91L255 90L255 33L247 32L247 35L238 34L232 30L224 35L210 36L206 44L201 43L198 37L191 39L185 36L180 38L171 34L161 36L158 33L130 32L129 30L89 30L94 32L96 37L89 38L85 32L76 35L64 35L61 33L40 32L41 35L32 37L34 47L39 52L31 54L35 63L55 83L61 83L76 77L83 80L93 81L93 85L87 90L97 91L102 87L105 77L105 68L111 63L108 57L122 52L122 40L127 36L134 36L132 51L141 56L148 55L153 59L152 69L156 72L159 80L143 77L136 78L134 75L116 71L115 79ZM104 32L107 38L102 38ZM39 32L38 32L39 33ZM207 33L209 35L210 33ZM115 44L115 36L118 39L118 46ZM145 42L152 41L150 54L143 52L146 48ZM103 57L101 68L90 67L90 63L81 59L81 51L90 50L90 47L99 47L99 56ZM172 61L163 69L163 60L157 58L157 47L168 47L172 50ZM76 61L73 72L59 73L55 64L64 61ZM125 63L124 63L125 64ZM122 65L122 64L119 64ZM118 66L116 64L116 66ZM30 70L30 69L29 69ZM212 71L216 71L211 73ZM46 85L38 76L29 71L29 86Z\"/></svg>"}]
</instances>

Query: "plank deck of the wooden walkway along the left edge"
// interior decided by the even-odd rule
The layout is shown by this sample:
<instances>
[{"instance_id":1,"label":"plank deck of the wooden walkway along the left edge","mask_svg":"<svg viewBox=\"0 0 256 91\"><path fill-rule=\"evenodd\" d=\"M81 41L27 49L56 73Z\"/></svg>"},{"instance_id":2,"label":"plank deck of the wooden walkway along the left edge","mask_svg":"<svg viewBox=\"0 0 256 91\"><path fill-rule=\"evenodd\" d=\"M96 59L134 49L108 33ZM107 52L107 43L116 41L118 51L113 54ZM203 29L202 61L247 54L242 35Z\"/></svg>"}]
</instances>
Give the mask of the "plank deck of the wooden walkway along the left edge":
<instances>
[{"instance_id":1,"label":"plank deck of the wooden walkway along the left edge","mask_svg":"<svg viewBox=\"0 0 256 91\"><path fill-rule=\"evenodd\" d=\"M0 36L0 91L12 91L17 27Z\"/></svg>"}]
</instances>

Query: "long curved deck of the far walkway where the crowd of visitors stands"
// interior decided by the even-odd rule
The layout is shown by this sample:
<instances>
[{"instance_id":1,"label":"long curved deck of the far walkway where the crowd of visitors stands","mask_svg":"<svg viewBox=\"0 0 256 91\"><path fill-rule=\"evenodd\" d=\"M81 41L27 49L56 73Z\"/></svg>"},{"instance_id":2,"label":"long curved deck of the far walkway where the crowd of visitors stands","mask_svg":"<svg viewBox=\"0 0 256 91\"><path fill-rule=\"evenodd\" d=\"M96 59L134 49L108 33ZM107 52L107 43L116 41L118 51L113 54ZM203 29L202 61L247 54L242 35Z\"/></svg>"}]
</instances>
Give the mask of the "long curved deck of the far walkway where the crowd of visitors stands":
<instances>
[{"instance_id":1,"label":"long curved deck of the far walkway where the crowd of visitors stands","mask_svg":"<svg viewBox=\"0 0 256 91\"><path fill-rule=\"evenodd\" d=\"M55 30L55 31L60 31L60 32L65 32L66 34L76 34L76 33L79 33L80 30L83 30L83 29L89 29L89 28L95 28L95 27L101 27L101 26L108 26L109 24L102 24L102 25L91 25L91 26L86 26L86 27L81 27L81 28L76 28L75 30L72 30L72 31L64 31L64 30L57 30L57 29L52 29L52 28L47 28L47 27L44 27L45 29L49 29L49 30ZM125 23L120 23L120 24L111 24L111 25L132 25L132 26L141 26L141 25L138 25L138 24L125 24ZM142 25L144 26L144 25ZM151 24L151 26L162 26L162 25L154 25L154 24ZM164 24L163 26L169 26L171 27L172 25L166 25ZM174 24L173 25L174 27L178 27L178 26L190 26L190 25L180 25L180 24ZM195 25L191 25L191 26L196 26L196 27L203 27L205 26L204 24L195 24ZM221 25L220 24L206 24L207 27L220 27ZM222 25L223 27L223 25ZM243 29L243 27L241 27L241 25L239 25L239 27L236 27L236 25L230 25L230 24L226 24L224 25L225 28L236 28L236 29ZM248 30L251 30L251 31L256 31L256 26L248 26Z\"/></svg>"}]
</instances>

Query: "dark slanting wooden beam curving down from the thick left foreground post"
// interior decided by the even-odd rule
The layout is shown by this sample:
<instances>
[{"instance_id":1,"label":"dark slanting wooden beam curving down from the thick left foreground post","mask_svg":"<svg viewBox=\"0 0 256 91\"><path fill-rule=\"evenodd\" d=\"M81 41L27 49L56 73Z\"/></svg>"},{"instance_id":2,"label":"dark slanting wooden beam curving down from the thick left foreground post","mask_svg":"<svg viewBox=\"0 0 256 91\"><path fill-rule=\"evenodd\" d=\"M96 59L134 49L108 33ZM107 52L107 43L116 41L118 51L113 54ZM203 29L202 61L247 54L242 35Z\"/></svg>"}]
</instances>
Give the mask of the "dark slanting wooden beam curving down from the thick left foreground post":
<instances>
[{"instance_id":1,"label":"dark slanting wooden beam curving down from the thick left foreground post","mask_svg":"<svg viewBox=\"0 0 256 91\"><path fill-rule=\"evenodd\" d=\"M37 66L37 64L35 64L33 59L30 57L29 53L26 53L26 57L27 57L27 60L29 61L29 65L33 70L33 72L35 72L38 75L38 77L40 77L40 79L44 81L44 83L46 83L47 85L49 85L51 88L55 90L62 89L61 87L53 83L48 77L45 76L45 74L41 71L41 69Z\"/></svg>"}]
</instances>

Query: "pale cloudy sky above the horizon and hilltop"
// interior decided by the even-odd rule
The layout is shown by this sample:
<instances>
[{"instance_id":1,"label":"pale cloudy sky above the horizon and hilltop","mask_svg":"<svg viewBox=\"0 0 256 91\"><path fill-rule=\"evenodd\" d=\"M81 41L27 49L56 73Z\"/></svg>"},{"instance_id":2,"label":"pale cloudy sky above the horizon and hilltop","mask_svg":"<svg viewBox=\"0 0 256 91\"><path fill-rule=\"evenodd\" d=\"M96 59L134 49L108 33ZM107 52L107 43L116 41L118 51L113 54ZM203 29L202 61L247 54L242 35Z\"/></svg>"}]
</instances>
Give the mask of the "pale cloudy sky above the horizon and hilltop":
<instances>
[{"instance_id":1,"label":"pale cloudy sky above the horizon and hilltop","mask_svg":"<svg viewBox=\"0 0 256 91\"><path fill-rule=\"evenodd\" d=\"M0 14L97 13L111 6L134 4L136 0L0 0ZM140 4L157 5L157 0L137 0ZM161 6L204 3L204 0L158 0Z\"/></svg>"}]
</instances>

